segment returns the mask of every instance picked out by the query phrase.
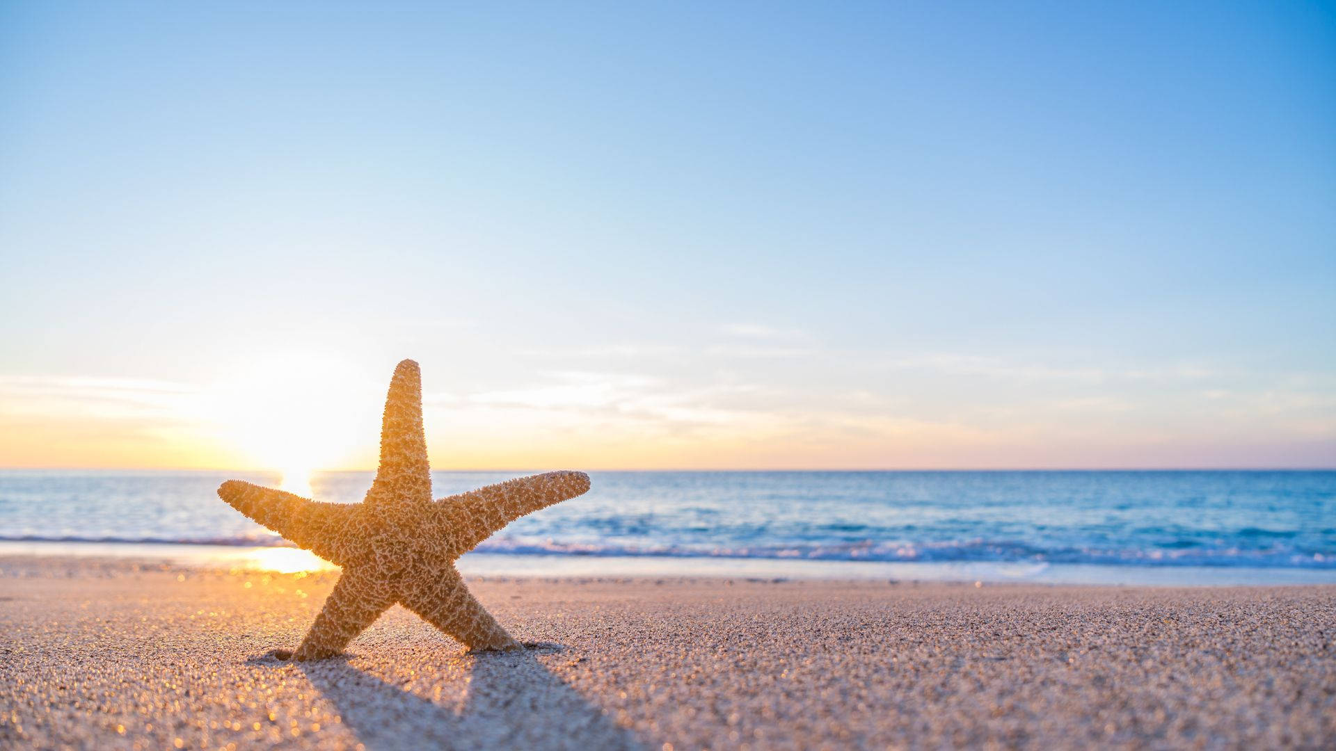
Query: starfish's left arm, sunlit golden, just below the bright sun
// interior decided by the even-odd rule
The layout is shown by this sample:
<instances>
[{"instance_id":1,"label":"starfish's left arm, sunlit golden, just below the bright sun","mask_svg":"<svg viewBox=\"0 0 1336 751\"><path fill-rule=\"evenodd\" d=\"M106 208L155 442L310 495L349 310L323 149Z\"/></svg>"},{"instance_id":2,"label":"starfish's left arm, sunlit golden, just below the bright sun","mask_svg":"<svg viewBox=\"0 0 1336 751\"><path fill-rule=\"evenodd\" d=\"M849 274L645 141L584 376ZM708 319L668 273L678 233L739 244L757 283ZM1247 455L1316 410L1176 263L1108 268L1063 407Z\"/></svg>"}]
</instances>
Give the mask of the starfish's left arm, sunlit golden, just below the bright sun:
<instances>
[{"instance_id":1,"label":"starfish's left arm, sunlit golden, just below the bright sun","mask_svg":"<svg viewBox=\"0 0 1336 751\"><path fill-rule=\"evenodd\" d=\"M347 531L355 504L323 504L240 480L228 480L218 496L234 509L339 565L349 559Z\"/></svg>"}]
</instances>

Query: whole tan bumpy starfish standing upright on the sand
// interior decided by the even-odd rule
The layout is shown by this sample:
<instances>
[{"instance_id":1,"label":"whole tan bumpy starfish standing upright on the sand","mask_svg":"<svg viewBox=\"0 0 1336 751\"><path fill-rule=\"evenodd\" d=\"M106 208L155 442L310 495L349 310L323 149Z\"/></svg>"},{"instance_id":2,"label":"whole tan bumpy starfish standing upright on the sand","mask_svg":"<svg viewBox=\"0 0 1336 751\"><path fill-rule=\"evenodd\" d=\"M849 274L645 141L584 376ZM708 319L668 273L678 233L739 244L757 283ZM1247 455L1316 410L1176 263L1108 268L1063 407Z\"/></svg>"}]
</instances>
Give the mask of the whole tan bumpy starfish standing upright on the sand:
<instances>
[{"instance_id":1,"label":"whole tan bumpy starfish standing upright on the sand","mask_svg":"<svg viewBox=\"0 0 1336 751\"><path fill-rule=\"evenodd\" d=\"M317 502L240 480L223 482L218 494L343 569L297 651L274 652L281 659L322 660L342 652L395 603L469 649L520 648L469 593L454 561L516 518L588 489L584 472L549 472L433 500L422 374L417 362L405 359L390 380L381 464L362 502Z\"/></svg>"}]
</instances>

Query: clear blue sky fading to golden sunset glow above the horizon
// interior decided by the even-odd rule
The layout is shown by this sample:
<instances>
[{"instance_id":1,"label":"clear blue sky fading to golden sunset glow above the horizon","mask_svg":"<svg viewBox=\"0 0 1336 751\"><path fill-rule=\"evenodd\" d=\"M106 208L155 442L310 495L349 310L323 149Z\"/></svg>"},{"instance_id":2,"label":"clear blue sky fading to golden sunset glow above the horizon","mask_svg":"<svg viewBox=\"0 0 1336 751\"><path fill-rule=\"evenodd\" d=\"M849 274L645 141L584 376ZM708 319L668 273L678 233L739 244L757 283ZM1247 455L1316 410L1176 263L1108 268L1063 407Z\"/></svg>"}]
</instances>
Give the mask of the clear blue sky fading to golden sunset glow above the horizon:
<instances>
[{"instance_id":1,"label":"clear blue sky fading to golden sunset glow above the horizon","mask_svg":"<svg viewBox=\"0 0 1336 751\"><path fill-rule=\"evenodd\" d=\"M0 466L1336 466L1331 3L0 0Z\"/></svg>"}]
</instances>

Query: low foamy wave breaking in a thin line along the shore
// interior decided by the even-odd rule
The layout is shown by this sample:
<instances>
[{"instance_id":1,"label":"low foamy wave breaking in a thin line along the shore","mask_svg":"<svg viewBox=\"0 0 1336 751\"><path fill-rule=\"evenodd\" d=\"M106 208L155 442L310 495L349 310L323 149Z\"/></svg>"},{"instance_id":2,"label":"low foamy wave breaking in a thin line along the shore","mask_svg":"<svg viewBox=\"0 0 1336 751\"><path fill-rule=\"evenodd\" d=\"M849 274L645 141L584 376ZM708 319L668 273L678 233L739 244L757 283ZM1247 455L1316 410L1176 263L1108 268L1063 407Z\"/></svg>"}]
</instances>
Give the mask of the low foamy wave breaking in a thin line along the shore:
<instances>
[{"instance_id":1,"label":"low foamy wave breaking in a thin line along the shore","mask_svg":"<svg viewBox=\"0 0 1336 751\"><path fill-rule=\"evenodd\" d=\"M9 543L136 544L136 545L227 545L294 547L270 533L222 537L80 537L80 536L0 536ZM1102 565L1208 565L1256 568L1336 569L1336 553L1292 548L1039 548L1007 540L961 540L949 543L832 543L759 544L701 547L673 544L612 545L557 540L492 539L478 552L526 556L595 557L684 557L684 559L774 559L812 561L875 563L1047 563Z\"/></svg>"}]
</instances>

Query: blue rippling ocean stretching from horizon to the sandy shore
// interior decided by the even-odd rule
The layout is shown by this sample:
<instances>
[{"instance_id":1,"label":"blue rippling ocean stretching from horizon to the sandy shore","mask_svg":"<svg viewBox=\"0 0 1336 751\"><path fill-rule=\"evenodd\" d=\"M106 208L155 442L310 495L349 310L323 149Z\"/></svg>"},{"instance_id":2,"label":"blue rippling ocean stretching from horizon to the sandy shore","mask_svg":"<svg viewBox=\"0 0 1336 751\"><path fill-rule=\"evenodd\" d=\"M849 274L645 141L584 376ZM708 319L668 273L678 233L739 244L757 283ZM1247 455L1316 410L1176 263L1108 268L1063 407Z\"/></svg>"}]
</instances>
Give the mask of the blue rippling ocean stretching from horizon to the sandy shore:
<instances>
[{"instance_id":1,"label":"blue rippling ocean stretching from horizon to the sandy shore","mask_svg":"<svg viewBox=\"0 0 1336 751\"><path fill-rule=\"evenodd\" d=\"M522 472L434 472L448 496ZM465 561L486 572L1248 584L1336 581L1336 472L595 472ZM287 543L230 472L3 470L0 552ZM369 472L311 478L354 502ZM462 564L461 564L462 567ZM466 567L462 567L466 568Z\"/></svg>"}]
</instances>

